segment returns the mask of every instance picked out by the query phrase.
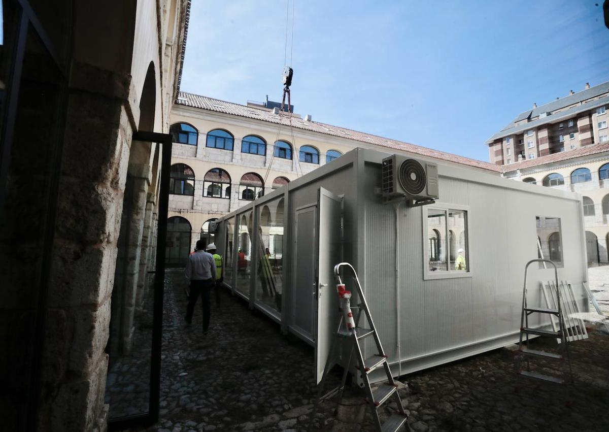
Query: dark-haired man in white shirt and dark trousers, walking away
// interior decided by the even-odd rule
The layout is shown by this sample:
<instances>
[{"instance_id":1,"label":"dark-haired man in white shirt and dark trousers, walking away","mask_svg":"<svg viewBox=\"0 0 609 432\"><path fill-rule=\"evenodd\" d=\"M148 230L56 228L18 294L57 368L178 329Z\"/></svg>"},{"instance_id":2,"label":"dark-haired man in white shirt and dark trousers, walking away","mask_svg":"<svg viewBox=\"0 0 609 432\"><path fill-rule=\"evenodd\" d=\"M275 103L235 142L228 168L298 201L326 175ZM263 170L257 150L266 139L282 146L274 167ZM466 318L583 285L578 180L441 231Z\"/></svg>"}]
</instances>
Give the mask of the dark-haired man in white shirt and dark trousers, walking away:
<instances>
[{"instance_id":1,"label":"dark-haired man in white shirt and dark trousers, walking away","mask_svg":"<svg viewBox=\"0 0 609 432\"><path fill-rule=\"evenodd\" d=\"M203 309L203 334L205 335L209 328L209 294L216 285L216 261L211 253L205 252L205 241L197 240L195 253L188 255L184 274L191 280L185 320L191 324L194 305L200 295Z\"/></svg>"}]
</instances>

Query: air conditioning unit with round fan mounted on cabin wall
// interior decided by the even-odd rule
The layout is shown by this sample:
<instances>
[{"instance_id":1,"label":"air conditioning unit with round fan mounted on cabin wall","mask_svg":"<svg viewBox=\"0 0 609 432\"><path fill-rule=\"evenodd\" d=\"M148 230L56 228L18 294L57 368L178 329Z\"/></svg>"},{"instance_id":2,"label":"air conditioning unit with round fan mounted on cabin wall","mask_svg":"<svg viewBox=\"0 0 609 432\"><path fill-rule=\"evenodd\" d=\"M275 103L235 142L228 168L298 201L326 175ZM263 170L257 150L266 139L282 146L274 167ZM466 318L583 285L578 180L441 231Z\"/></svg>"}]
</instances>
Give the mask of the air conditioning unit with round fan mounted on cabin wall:
<instances>
[{"instance_id":1,"label":"air conditioning unit with round fan mounted on cabin wall","mask_svg":"<svg viewBox=\"0 0 609 432\"><path fill-rule=\"evenodd\" d=\"M438 166L411 157L392 155L382 160L384 202L406 200L409 207L438 199Z\"/></svg>"}]
</instances>

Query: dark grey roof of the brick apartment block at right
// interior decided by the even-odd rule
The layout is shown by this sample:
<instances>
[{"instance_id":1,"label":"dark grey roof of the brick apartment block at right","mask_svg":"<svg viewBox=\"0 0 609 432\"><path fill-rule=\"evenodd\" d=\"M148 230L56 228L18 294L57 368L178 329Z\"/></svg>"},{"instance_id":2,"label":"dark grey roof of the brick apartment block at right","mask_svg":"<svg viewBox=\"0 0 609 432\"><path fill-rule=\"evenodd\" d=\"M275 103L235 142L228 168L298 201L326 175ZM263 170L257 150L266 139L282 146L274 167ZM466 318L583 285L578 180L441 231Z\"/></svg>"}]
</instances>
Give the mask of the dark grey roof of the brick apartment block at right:
<instances>
[{"instance_id":1,"label":"dark grey roof of the brick apartment block at right","mask_svg":"<svg viewBox=\"0 0 609 432\"><path fill-rule=\"evenodd\" d=\"M560 120L566 120L572 118L580 112L588 111L593 108L600 107L602 105L607 105L609 104L609 95L605 97L600 97L596 101L585 101L588 101L588 99L592 99L593 97L597 97L608 92L609 81L599 85L595 85L594 87L586 88L586 90L578 91L574 94L569 94L569 96L562 97L557 101L552 101L547 104L541 105L540 107L533 108L532 110L527 110L523 113L520 113L518 117L513 119L507 126L504 127L504 129L500 130L499 132L495 133L495 135L488 138L487 144L492 143L498 138L503 138L504 136L514 135L516 133L524 132L525 130L534 129L535 127L541 126L542 124L555 123ZM556 110L560 110L561 108L569 107L570 105L574 104L580 105L576 105L575 107L571 107L565 111L554 113ZM543 113L552 114L516 126L516 122L518 121L527 118L535 118Z\"/></svg>"}]
</instances>

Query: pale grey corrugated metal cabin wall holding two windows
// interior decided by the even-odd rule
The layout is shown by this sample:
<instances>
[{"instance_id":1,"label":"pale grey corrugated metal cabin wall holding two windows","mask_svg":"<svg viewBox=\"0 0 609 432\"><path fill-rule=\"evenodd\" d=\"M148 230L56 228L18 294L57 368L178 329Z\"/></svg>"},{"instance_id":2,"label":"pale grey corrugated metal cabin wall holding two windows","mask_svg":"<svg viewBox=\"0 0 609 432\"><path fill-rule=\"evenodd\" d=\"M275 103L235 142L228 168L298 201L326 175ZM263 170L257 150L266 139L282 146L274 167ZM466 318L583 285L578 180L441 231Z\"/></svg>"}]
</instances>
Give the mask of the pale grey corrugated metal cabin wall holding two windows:
<instances>
[{"instance_id":1,"label":"pale grey corrugated metal cabin wall holding two windows","mask_svg":"<svg viewBox=\"0 0 609 432\"><path fill-rule=\"evenodd\" d=\"M442 174L442 166L439 168ZM585 251L577 201L441 176L438 203L469 206L471 277L424 280L422 208L401 205L398 317L395 207L382 204L375 193L380 178L380 165L365 165L365 226L357 230L365 235L365 257L359 271L364 272L361 277L368 303L392 363L398 359L399 319L403 372L410 370L408 360L427 356L428 361L420 364L432 366L489 349L493 343L501 346L505 336L518 333L524 266L537 258L535 216L561 218L565 267L559 269L559 278L571 280L574 288L581 289L586 276L580 257ZM539 293L538 281L549 280L554 273L533 264L529 274L531 304ZM577 297L583 304L583 293L579 291ZM487 348L482 349L482 343ZM366 350L371 355L373 344L368 342ZM414 368L421 369L420 364ZM393 369L397 374L398 368Z\"/></svg>"}]
</instances>

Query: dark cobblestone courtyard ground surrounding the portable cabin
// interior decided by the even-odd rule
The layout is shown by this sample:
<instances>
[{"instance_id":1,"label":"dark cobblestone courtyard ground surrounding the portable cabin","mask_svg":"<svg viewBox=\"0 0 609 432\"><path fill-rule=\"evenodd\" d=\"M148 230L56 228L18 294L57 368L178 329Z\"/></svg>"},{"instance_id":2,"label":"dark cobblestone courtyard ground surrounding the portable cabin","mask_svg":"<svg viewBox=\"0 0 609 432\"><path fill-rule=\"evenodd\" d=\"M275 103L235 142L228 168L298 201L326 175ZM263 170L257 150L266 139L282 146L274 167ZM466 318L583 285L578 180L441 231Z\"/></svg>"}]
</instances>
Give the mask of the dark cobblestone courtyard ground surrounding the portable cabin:
<instances>
[{"instance_id":1,"label":"dark cobblestone courtyard ground surrounding the portable cabin","mask_svg":"<svg viewBox=\"0 0 609 432\"><path fill-rule=\"evenodd\" d=\"M225 293L212 306L211 330L203 336L200 306L191 326L180 272L168 272L164 310L160 421L150 431L303 431L314 400L313 350L277 324ZM198 306L198 305L197 305ZM554 342L551 342L554 344ZM533 341L541 346L541 341ZM499 349L401 377L400 389L415 431L607 431L609 430L609 337L591 331L574 342L575 384L566 408L565 388L517 380L514 350ZM556 365L532 361L546 373ZM331 376L332 388L339 381ZM515 392L515 387L519 391ZM364 416L361 395L350 390L334 415L322 405L313 430L357 431ZM383 416L390 406L382 408ZM365 411L361 430L373 430Z\"/></svg>"}]
</instances>

